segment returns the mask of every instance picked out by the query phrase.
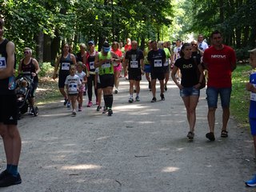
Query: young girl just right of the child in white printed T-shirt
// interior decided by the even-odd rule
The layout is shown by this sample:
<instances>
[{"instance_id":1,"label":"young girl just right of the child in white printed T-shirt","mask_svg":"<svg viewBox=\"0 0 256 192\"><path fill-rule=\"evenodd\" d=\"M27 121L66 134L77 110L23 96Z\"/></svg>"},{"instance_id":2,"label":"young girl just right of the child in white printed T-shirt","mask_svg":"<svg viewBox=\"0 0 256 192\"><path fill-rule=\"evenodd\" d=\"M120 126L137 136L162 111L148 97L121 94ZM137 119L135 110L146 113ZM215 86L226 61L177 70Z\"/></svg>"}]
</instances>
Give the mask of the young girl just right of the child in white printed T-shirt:
<instances>
[{"instance_id":1,"label":"young girl just right of the child in white printed T-shirt","mask_svg":"<svg viewBox=\"0 0 256 192\"><path fill-rule=\"evenodd\" d=\"M82 96L83 96L83 92L86 91L85 87L86 87L86 83L87 83L86 73L82 70L83 70L82 62L78 62L76 74L78 75L78 77L80 78L80 81L82 83L82 85L78 87L79 88L79 90L78 90L78 111L82 111Z\"/></svg>"}]
</instances>

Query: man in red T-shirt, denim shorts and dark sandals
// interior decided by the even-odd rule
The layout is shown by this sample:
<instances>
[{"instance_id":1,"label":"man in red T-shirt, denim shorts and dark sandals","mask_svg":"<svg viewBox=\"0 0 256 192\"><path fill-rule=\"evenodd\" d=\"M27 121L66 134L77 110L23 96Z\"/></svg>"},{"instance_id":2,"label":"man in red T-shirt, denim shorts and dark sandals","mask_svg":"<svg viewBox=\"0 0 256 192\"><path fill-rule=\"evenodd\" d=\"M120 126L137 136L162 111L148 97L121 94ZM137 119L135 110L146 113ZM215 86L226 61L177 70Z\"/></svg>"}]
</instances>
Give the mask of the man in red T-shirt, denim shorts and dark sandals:
<instances>
[{"instance_id":1,"label":"man in red T-shirt, denim shorts and dark sandals","mask_svg":"<svg viewBox=\"0 0 256 192\"><path fill-rule=\"evenodd\" d=\"M227 122L230 118L230 95L232 90L231 73L236 68L236 57L230 46L222 44L222 34L215 30L210 35L212 46L203 54L203 63L208 70L207 103L208 124L210 133L206 138L214 141L215 110L217 109L218 94L222 101L222 138L227 138Z\"/></svg>"}]
</instances>

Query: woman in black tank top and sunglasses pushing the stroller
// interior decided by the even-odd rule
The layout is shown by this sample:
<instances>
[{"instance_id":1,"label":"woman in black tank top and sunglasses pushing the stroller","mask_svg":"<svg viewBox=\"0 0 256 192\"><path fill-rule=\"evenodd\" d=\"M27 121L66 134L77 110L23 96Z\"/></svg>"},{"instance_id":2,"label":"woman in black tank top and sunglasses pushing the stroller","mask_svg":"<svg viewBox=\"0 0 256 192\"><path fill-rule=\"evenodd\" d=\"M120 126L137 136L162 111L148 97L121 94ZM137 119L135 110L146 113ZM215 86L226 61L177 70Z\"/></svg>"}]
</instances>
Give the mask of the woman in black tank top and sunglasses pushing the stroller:
<instances>
[{"instance_id":1,"label":"woman in black tank top and sunglasses pushing the stroller","mask_svg":"<svg viewBox=\"0 0 256 192\"><path fill-rule=\"evenodd\" d=\"M18 74L22 72L30 72L31 76L34 78L33 84L32 84L32 90L30 91L30 114L34 114L34 111L32 111L34 106L34 94L35 91L38 88L38 73L40 72L40 67L38 64L38 61L35 58L32 58L32 50L29 47L25 47L24 49L24 58L22 58L18 65Z\"/></svg>"}]
</instances>

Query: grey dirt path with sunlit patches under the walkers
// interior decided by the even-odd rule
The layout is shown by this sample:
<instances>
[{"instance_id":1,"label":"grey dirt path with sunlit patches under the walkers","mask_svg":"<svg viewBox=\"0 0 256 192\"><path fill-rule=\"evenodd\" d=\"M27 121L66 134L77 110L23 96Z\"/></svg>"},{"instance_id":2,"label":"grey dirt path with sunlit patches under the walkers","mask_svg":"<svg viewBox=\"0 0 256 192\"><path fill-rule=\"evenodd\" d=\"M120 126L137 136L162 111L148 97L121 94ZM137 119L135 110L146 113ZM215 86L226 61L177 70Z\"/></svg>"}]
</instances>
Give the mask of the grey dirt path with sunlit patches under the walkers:
<instances>
[{"instance_id":1,"label":"grey dirt path with sunlit patches under the walkers","mask_svg":"<svg viewBox=\"0 0 256 192\"><path fill-rule=\"evenodd\" d=\"M36 118L25 115L19 121L22 184L0 191L253 191L244 186L256 172L250 132L231 118L229 138L220 138L218 109L216 141L208 142L204 90L194 142L188 142L186 111L173 82L166 101L151 103L143 80L141 102L130 104L128 82L121 81L112 117L96 106L71 117L61 99L39 106ZM4 160L0 147L5 168Z\"/></svg>"}]
</instances>

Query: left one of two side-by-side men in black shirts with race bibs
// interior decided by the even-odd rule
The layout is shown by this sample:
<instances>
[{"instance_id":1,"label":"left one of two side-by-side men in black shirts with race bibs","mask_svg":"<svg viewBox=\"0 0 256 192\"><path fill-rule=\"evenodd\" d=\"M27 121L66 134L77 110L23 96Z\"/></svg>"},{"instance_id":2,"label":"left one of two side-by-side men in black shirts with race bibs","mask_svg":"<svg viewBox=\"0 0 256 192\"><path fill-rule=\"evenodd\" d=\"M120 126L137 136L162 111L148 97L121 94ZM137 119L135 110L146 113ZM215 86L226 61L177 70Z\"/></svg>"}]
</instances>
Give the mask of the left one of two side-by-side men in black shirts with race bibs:
<instances>
[{"instance_id":1,"label":"left one of two side-by-side men in black shirts with race bibs","mask_svg":"<svg viewBox=\"0 0 256 192\"><path fill-rule=\"evenodd\" d=\"M144 74L143 52L138 50L138 42L131 42L132 49L126 52L126 68L128 68L128 78L130 82L130 98L129 102L134 102L134 85L136 87L136 102L140 101L140 81Z\"/></svg>"}]
</instances>

